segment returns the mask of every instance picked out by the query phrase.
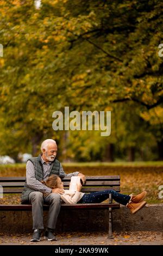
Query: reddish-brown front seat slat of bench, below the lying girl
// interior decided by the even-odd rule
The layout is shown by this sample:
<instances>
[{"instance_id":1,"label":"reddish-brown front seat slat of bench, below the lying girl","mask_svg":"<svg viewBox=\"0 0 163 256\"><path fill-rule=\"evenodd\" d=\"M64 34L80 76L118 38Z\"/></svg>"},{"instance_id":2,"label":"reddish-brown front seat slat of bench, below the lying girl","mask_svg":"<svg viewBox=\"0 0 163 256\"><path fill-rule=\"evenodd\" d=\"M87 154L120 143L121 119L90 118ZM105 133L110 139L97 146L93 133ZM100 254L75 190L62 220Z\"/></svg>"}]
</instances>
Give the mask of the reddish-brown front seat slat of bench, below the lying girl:
<instances>
[{"instance_id":1,"label":"reddish-brown front seat slat of bench, below the lying girl","mask_svg":"<svg viewBox=\"0 0 163 256\"><path fill-rule=\"evenodd\" d=\"M119 209L120 204L61 204L61 209L97 209L97 208L102 208L102 209L108 209L108 208L114 208L114 209ZM49 205L43 205L43 210L48 210ZM0 211L22 211L22 210L32 210L32 205L29 204L1 204L0 205Z\"/></svg>"}]
</instances>

